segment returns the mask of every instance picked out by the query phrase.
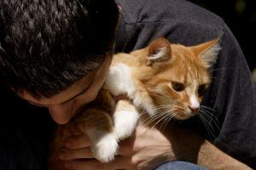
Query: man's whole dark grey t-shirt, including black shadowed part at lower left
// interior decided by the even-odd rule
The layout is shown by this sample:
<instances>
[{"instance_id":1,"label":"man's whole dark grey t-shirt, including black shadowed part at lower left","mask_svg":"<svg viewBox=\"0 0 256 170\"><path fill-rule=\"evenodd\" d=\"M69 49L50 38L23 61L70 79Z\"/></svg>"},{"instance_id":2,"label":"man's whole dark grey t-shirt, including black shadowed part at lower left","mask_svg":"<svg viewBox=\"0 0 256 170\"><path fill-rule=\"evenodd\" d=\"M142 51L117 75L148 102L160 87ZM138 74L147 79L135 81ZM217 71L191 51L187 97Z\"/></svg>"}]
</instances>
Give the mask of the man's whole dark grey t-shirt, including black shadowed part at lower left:
<instances>
[{"instance_id":1,"label":"man's whole dark grey t-shirt, including black shadowed part at lower left","mask_svg":"<svg viewBox=\"0 0 256 170\"><path fill-rule=\"evenodd\" d=\"M201 120L185 123L219 148L256 168L256 95L247 62L236 38L217 15L183 0L116 0L122 8L116 50L143 48L157 37L194 45L223 36L212 87L202 105L212 108L219 125ZM44 170L54 123L46 109L10 94L0 84L0 170ZM210 119L209 119L210 120ZM219 129L218 129L219 127Z\"/></svg>"}]
</instances>

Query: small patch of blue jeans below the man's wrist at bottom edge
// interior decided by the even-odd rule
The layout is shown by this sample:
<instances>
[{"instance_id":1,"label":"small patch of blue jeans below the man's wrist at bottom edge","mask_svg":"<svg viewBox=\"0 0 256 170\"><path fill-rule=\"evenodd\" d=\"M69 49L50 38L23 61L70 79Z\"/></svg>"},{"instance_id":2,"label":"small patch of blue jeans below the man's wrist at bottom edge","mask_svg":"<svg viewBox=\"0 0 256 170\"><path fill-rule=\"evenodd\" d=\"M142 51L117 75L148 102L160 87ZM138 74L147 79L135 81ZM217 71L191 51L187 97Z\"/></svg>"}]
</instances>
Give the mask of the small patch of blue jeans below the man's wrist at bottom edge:
<instances>
[{"instance_id":1,"label":"small patch of blue jeans below the man's wrist at bottom edge","mask_svg":"<svg viewBox=\"0 0 256 170\"><path fill-rule=\"evenodd\" d=\"M200 167L187 161L169 161L155 170L207 170L206 167Z\"/></svg>"}]
</instances>

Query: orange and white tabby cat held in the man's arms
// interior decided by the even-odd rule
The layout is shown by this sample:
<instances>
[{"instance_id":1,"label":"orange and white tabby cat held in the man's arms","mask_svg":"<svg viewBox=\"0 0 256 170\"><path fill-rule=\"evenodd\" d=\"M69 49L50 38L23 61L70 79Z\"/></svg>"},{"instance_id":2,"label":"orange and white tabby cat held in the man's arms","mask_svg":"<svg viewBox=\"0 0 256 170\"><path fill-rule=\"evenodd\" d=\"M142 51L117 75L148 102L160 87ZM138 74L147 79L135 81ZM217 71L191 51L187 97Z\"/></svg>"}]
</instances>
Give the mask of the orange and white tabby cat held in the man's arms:
<instances>
[{"instance_id":1,"label":"orange and white tabby cat held in the man's arms","mask_svg":"<svg viewBox=\"0 0 256 170\"><path fill-rule=\"evenodd\" d=\"M185 47L160 38L131 54L115 54L96 100L56 130L50 169L65 169L57 163L56 152L73 134L86 133L96 159L108 162L119 139L129 137L137 126L140 113L179 120L195 116L211 82L207 69L219 50L218 39ZM127 94L129 100L115 102L113 96L119 94Z\"/></svg>"}]
</instances>

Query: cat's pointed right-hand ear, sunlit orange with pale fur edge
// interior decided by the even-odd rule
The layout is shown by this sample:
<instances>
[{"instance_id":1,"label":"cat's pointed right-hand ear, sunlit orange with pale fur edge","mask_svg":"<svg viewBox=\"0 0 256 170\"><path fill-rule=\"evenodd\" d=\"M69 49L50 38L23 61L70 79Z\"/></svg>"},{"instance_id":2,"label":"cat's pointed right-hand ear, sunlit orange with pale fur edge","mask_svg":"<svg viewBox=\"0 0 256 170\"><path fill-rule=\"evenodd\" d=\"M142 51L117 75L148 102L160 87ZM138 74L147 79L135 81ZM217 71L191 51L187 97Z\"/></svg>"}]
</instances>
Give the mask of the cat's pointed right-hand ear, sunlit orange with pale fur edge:
<instances>
[{"instance_id":1,"label":"cat's pointed right-hand ear, sunlit orange with pale fur edge","mask_svg":"<svg viewBox=\"0 0 256 170\"><path fill-rule=\"evenodd\" d=\"M193 47L195 55L201 57L206 62L207 68L216 63L220 49L221 37Z\"/></svg>"}]
</instances>

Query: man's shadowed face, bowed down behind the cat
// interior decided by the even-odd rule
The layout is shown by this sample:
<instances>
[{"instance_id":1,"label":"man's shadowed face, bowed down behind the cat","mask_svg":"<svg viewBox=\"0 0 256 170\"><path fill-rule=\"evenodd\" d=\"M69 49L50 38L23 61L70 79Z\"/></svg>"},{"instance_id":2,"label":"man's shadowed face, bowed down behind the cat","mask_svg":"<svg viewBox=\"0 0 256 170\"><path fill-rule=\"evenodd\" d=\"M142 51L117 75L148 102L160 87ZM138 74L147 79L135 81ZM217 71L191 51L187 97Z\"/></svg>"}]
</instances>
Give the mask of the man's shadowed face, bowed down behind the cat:
<instances>
[{"instance_id":1,"label":"man's shadowed face, bowed down behind the cat","mask_svg":"<svg viewBox=\"0 0 256 170\"><path fill-rule=\"evenodd\" d=\"M84 105L96 99L96 95L107 76L111 60L112 56L107 55L102 65L95 71L91 71L78 82L74 82L71 87L51 98L36 99L26 91L22 91L18 95L32 105L48 108L49 115L56 123L66 124L74 115L79 113Z\"/></svg>"}]
</instances>

